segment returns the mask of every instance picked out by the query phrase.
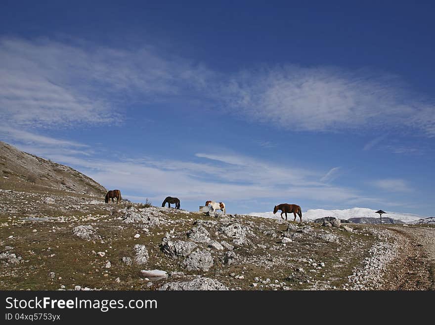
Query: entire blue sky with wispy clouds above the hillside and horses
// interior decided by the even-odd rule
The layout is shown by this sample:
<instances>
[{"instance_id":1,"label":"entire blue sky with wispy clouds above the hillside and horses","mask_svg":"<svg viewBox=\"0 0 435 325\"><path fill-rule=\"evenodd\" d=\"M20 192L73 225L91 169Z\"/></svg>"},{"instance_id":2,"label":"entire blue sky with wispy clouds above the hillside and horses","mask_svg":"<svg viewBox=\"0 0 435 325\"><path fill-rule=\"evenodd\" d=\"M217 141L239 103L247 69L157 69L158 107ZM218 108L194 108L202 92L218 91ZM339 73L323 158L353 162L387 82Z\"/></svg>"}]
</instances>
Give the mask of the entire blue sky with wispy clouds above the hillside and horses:
<instances>
[{"instance_id":1,"label":"entire blue sky with wispy clouds above the hillside and horses","mask_svg":"<svg viewBox=\"0 0 435 325\"><path fill-rule=\"evenodd\" d=\"M1 2L0 139L155 205L434 214L430 2L105 2Z\"/></svg>"}]
</instances>

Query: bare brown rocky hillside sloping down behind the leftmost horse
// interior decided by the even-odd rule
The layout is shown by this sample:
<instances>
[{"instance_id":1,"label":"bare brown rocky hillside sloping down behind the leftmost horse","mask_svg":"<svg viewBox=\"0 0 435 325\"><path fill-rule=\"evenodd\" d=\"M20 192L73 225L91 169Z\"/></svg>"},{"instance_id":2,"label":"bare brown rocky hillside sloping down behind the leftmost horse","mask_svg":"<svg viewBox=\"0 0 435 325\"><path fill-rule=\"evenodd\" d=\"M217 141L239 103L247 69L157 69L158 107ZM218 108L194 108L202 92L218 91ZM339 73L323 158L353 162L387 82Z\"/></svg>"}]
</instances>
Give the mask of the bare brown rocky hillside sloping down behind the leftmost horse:
<instances>
[{"instance_id":1,"label":"bare brown rocky hillside sloping down behind the leftmost horse","mask_svg":"<svg viewBox=\"0 0 435 325\"><path fill-rule=\"evenodd\" d=\"M71 167L22 152L0 141L0 188L101 196L107 190Z\"/></svg>"}]
</instances>

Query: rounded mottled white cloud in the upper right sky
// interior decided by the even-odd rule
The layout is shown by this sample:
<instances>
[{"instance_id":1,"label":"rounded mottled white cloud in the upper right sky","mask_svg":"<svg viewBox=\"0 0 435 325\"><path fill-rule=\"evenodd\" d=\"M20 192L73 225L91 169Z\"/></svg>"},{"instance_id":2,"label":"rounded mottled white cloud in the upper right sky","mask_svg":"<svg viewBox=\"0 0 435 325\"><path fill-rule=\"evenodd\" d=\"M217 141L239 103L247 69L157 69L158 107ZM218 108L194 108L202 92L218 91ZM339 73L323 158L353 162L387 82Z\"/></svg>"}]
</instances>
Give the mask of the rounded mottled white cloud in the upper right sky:
<instances>
[{"instance_id":1,"label":"rounded mottled white cloud in the upper right sky","mask_svg":"<svg viewBox=\"0 0 435 325\"><path fill-rule=\"evenodd\" d=\"M435 136L434 98L395 76L288 65L239 73L222 93L243 117L289 131L411 127Z\"/></svg>"}]
</instances>

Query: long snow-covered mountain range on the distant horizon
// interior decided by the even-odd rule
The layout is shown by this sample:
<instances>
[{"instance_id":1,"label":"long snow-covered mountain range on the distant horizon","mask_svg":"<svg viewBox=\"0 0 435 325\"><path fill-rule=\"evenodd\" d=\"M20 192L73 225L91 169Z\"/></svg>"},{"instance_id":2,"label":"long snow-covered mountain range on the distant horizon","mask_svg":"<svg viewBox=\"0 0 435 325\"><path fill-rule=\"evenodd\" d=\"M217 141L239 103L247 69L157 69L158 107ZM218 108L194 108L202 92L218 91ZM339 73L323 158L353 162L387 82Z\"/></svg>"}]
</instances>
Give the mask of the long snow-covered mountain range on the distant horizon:
<instances>
[{"instance_id":1,"label":"long snow-covered mountain range on the distant horizon","mask_svg":"<svg viewBox=\"0 0 435 325\"><path fill-rule=\"evenodd\" d=\"M323 217L335 217L338 219L349 219L349 218L377 218L379 217L376 214L377 210L367 209L367 208L352 208L345 210L323 210L323 209L311 209L307 211L302 211L302 220L315 220ZM251 212L250 216L258 216L264 218L280 218L281 211L278 211L275 215L273 212ZM395 220L401 220L405 223L411 223L413 221L417 221L420 219L424 219L426 217L419 216L416 214L410 213L398 213L398 212L389 212L383 215L384 217L389 217ZM287 214L289 220L293 220L293 214ZM296 221L299 220L299 217Z\"/></svg>"}]
</instances>

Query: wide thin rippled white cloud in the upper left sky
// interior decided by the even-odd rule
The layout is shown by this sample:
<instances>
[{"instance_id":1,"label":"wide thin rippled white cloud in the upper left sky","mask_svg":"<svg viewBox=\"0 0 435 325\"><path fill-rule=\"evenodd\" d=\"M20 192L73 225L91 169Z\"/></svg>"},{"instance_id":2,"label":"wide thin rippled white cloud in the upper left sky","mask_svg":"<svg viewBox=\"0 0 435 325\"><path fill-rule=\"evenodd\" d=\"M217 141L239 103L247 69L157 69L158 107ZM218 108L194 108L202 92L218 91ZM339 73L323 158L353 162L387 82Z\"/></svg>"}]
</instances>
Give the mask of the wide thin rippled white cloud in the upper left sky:
<instances>
[{"instance_id":1,"label":"wide thin rippled white cloud in the upper left sky","mask_svg":"<svg viewBox=\"0 0 435 325\"><path fill-rule=\"evenodd\" d=\"M208 73L153 48L1 39L0 110L15 125L114 124L126 102L183 96L204 87Z\"/></svg>"}]
</instances>

